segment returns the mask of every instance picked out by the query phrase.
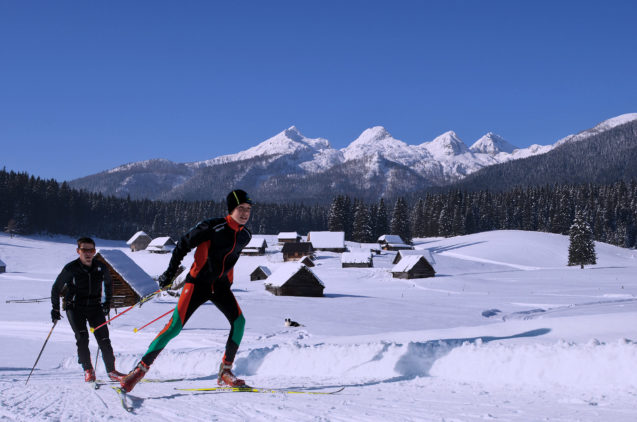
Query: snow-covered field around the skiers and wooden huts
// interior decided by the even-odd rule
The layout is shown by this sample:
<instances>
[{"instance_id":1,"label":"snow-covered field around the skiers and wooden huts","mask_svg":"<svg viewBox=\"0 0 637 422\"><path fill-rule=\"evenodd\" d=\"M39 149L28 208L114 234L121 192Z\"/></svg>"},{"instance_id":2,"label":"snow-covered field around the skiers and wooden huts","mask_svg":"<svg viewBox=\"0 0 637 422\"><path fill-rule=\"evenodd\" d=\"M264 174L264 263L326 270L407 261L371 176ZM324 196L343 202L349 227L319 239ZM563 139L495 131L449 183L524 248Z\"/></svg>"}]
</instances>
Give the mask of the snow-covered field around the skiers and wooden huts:
<instances>
[{"instance_id":1,"label":"snow-covered field around the skiers and wooden huts","mask_svg":"<svg viewBox=\"0 0 637 422\"><path fill-rule=\"evenodd\" d=\"M335 395L192 393L216 384L228 323L199 308L140 383L126 412L107 386L92 390L76 361L71 328L55 327L31 380L25 380L51 329L48 298L73 239L0 235L0 420L2 421L635 421L637 420L637 251L597 243L598 264L567 267L568 238L495 231L417 239L435 278L394 279L395 252L374 268L340 268L319 252L313 271L325 297L276 297L249 281L268 253L242 257L234 292L246 316L235 372L253 386ZM168 255L125 251L158 276ZM359 245L349 244L358 247ZM363 245L364 246L364 245ZM163 296L110 325L122 372L145 352L170 310ZM291 318L303 327L284 326ZM91 351L96 343L91 336ZM97 375L105 379L103 362Z\"/></svg>"}]
</instances>

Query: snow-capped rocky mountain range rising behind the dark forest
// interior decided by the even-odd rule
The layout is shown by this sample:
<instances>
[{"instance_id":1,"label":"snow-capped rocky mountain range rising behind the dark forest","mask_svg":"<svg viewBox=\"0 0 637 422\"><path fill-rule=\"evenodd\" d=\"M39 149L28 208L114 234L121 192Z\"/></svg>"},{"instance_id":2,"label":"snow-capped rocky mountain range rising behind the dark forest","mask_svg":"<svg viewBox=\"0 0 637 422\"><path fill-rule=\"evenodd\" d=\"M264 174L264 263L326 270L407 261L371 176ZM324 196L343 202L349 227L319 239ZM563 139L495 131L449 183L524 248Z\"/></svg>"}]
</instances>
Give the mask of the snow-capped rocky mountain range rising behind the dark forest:
<instances>
[{"instance_id":1,"label":"snow-capped rocky mountain range rising behind the dark forest","mask_svg":"<svg viewBox=\"0 0 637 422\"><path fill-rule=\"evenodd\" d=\"M430 142L408 145L381 126L365 130L343 149L334 149L328 140L307 138L292 126L236 154L193 163L129 163L73 180L70 185L107 195L163 200L218 199L240 187L264 202L321 203L338 194L375 201L444 186L487 167L545 155L560 145L634 121L637 114L618 116L554 145L523 149L494 133L467 147L453 131Z\"/></svg>"}]
</instances>

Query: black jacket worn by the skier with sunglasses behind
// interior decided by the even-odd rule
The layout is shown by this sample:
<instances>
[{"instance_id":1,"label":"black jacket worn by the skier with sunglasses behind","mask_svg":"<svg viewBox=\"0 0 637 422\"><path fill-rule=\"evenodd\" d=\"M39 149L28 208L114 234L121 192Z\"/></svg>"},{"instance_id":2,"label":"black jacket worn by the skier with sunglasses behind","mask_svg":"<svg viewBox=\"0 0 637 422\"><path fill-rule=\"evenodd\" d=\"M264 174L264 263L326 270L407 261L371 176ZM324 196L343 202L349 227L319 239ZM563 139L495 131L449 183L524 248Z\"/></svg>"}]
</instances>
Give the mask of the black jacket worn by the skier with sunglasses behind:
<instances>
[{"instance_id":1,"label":"black jacket worn by the skier with sunglasses behind","mask_svg":"<svg viewBox=\"0 0 637 422\"><path fill-rule=\"evenodd\" d=\"M73 309L77 306L100 306L102 283L104 284L104 302L110 303L113 296L113 284L106 265L95 258L90 267L82 264L79 258L69 262L51 288L53 309L60 310L60 296L63 296L64 309Z\"/></svg>"}]
</instances>

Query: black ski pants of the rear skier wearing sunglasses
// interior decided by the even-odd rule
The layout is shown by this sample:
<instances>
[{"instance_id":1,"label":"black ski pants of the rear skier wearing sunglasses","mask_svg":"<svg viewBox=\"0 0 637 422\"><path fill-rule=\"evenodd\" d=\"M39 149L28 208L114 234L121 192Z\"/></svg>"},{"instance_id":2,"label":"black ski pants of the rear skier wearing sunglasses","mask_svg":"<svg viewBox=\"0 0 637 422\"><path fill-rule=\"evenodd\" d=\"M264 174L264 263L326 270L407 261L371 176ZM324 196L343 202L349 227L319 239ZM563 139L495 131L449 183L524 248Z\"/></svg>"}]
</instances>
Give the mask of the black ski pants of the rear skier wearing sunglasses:
<instances>
[{"instance_id":1,"label":"black ski pants of the rear skier wearing sunglasses","mask_svg":"<svg viewBox=\"0 0 637 422\"><path fill-rule=\"evenodd\" d=\"M66 310L66 316L75 333L77 361L82 365L84 370L91 369L93 368L93 364L91 363L91 352L88 348L88 328L86 323L88 322L91 327L97 327L103 324L106 318L104 317L104 312L102 312L102 307L99 305L91 307L75 306L72 309ZM115 356L113 354L111 340L108 337L108 327L103 325L95 330L93 335L95 336L95 340L97 340L97 345L102 351L102 359L104 360L106 372L114 371Z\"/></svg>"}]
</instances>

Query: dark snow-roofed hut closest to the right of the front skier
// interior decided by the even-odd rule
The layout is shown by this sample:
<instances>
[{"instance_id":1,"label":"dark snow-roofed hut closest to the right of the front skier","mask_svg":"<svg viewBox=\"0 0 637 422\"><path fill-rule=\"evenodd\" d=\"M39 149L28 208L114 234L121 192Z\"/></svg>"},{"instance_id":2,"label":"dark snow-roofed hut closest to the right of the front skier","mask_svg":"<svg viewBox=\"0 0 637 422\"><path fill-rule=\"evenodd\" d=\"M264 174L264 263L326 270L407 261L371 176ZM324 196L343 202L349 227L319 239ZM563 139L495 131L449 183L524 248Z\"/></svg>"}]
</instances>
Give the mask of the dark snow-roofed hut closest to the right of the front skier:
<instances>
[{"instance_id":1,"label":"dark snow-roofed hut closest to the right of the front skier","mask_svg":"<svg viewBox=\"0 0 637 422\"><path fill-rule=\"evenodd\" d=\"M276 296L310 296L321 297L325 285L304 264L289 262L279 266L268 277L265 289Z\"/></svg>"}]
</instances>

